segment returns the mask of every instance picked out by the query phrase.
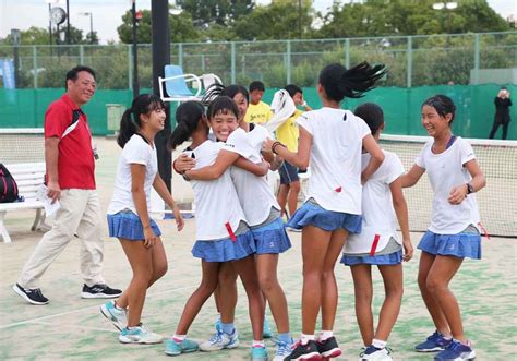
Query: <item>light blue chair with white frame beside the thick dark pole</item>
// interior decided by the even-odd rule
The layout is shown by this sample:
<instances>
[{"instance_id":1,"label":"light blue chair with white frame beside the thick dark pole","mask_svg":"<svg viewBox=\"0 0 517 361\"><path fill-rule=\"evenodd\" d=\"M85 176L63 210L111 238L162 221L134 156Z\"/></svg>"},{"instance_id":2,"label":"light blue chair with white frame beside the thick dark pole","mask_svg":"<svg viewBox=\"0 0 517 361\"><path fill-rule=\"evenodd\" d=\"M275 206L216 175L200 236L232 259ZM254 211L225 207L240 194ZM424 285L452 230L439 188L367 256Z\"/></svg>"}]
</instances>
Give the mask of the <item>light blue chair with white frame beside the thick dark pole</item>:
<instances>
[{"instance_id":1,"label":"light blue chair with white frame beside the thick dark pole","mask_svg":"<svg viewBox=\"0 0 517 361\"><path fill-rule=\"evenodd\" d=\"M165 77L158 76L159 96L164 101L185 101L201 98L202 83L195 74L183 74L179 65L165 65ZM195 82L195 93L187 86L187 82ZM164 92L167 92L167 96Z\"/></svg>"}]
</instances>

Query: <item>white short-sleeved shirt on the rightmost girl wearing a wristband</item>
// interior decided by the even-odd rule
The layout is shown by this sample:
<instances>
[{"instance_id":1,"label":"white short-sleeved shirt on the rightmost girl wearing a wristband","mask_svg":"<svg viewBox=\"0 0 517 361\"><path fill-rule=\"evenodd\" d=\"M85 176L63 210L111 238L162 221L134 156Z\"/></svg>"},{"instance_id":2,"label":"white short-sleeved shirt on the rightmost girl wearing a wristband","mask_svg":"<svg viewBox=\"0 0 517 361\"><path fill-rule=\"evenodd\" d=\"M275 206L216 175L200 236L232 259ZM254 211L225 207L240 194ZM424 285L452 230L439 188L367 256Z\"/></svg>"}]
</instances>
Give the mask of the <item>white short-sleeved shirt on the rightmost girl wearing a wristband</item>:
<instances>
[{"instance_id":1,"label":"white short-sleeved shirt on the rightmost girl wearing a wristband","mask_svg":"<svg viewBox=\"0 0 517 361\"><path fill-rule=\"evenodd\" d=\"M458 205L452 205L447 201L453 188L472 180L464 167L467 161L476 158L472 147L458 136L445 152L434 154L431 151L433 142L431 140L425 143L414 161L428 172L434 192L433 215L429 230L438 234L456 234L469 225L478 227L480 216L474 194L469 194Z\"/></svg>"}]
</instances>

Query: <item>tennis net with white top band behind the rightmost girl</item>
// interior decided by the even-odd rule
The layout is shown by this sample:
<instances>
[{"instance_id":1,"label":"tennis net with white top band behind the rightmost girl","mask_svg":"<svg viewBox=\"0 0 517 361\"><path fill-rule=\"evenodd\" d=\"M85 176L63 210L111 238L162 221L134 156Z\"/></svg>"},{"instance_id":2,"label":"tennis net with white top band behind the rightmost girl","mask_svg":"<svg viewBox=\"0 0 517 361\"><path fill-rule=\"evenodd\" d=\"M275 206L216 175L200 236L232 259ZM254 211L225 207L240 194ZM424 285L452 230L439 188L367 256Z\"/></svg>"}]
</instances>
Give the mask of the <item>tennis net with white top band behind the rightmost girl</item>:
<instances>
[{"instance_id":1,"label":"tennis net with white top band behind the rightmost girl","mask_svg":"<svg viewBox=\"0 0 517 361\"><path fill-rule=\"evenodd\" d=\"M429 141L426 136L381 136L381 146L398 155L406 171ZM486 178L486 186L476 194L481 224L490 236L517 237L517 141L467 140ZM433 192L426 175L404 190L411 231L424 231L431 222Z\"/></svg>"}]
</instances>

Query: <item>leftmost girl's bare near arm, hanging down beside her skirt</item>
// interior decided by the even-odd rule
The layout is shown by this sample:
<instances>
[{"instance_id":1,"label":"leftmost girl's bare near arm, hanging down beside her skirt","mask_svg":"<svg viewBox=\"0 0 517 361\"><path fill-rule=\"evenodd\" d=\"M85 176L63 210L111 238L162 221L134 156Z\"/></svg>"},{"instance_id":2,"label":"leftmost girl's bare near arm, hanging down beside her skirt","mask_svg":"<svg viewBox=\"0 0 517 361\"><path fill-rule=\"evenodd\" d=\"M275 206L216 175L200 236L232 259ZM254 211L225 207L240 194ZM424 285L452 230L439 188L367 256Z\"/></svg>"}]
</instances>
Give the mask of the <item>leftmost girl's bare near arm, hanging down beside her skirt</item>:
<instances>
[{"instance_id":1,"label":"leftmost girl's bare near arm, hanging down beside her skirt","mask_svg":"<svg viewBox=\"0 0 517 361\"><path fill-rule=\"evenodd\" d=\"M155 244L156 236L151 228L151 219L144 191L144 180L145 166L131 164L131 194L133 195L136 214L144 227L144 246L148 249Z\"/></svg>"}]
</instances>

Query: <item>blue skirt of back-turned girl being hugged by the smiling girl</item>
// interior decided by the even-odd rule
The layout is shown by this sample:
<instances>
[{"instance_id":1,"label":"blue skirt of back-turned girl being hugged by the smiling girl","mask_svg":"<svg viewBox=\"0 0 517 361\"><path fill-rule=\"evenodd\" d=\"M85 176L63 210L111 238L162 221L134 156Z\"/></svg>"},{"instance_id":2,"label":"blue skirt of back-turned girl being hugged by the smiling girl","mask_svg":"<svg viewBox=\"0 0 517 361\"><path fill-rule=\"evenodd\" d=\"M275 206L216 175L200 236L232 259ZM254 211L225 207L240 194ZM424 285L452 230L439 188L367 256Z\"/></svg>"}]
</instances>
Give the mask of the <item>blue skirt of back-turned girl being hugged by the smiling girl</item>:
<instances>
[{"instance_id":1,"label":"blue skirt of back-turned girl being hugged by the smiling girl","mask_svg":"<svg viewBox=\"0 0 517 361\"><path fill-rule=\"evenodd\" d=\"M192 255L206 262L228 262L245 258L256 252L251 230L237 236L237 240L225 238L217 241L195 241Z\"/></svg>"}]
</instances>

